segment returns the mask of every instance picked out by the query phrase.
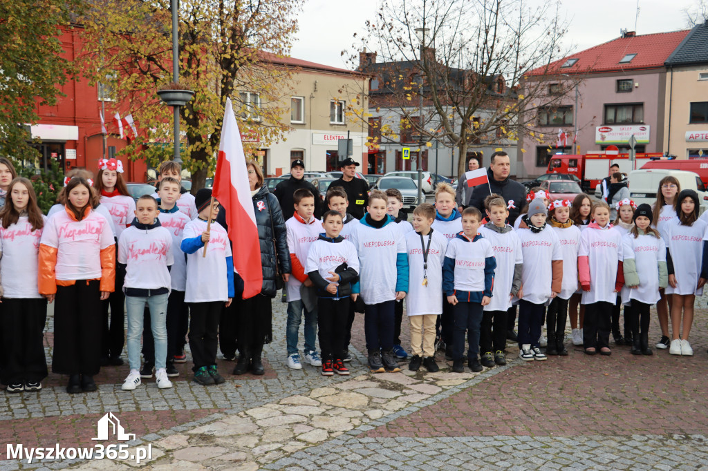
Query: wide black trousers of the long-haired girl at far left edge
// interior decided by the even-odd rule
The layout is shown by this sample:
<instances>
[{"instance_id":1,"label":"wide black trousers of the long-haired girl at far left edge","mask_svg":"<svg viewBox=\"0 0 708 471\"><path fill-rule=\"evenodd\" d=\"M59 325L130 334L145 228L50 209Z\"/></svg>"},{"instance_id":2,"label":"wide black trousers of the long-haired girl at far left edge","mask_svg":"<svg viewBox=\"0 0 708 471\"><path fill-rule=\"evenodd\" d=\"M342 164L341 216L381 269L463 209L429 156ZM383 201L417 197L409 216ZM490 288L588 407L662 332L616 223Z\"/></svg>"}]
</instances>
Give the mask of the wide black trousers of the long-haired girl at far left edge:
<instances>
[{"instance_id":1,"label":"wide black trousers of the long-haired girl at far left edge","mask_svg":"<svg viewBox=\"0 0 708 471\"><path fill-rule=\"evenodd\" d=\"M47 378L44 332L47 300L2 299L0 306L0 382L38 383Z\"/></svg>"}]
</instances>

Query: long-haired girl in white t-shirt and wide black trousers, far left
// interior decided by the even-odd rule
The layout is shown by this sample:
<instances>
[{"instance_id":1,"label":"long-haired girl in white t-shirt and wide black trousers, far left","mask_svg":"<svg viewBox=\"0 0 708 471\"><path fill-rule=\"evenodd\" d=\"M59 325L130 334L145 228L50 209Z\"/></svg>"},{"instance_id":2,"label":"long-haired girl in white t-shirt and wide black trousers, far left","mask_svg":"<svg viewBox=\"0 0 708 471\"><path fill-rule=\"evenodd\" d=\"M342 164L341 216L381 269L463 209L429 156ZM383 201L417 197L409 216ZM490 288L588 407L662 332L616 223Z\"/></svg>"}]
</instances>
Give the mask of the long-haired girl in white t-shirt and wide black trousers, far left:
<instances>
[{"instance_id":1,"label":"long-haired girl in white t-shirt and wide black trousers, far left","mask_svg":"<svg viewBox=\"0 0 708 471\"><path fill-rule=\"evenodd\" d=\"M0 220L0 383L7 392L38 391L47 377L47 300L37 286L45 217L30 180L10 182Z\"/></svg>"}]
</instances>

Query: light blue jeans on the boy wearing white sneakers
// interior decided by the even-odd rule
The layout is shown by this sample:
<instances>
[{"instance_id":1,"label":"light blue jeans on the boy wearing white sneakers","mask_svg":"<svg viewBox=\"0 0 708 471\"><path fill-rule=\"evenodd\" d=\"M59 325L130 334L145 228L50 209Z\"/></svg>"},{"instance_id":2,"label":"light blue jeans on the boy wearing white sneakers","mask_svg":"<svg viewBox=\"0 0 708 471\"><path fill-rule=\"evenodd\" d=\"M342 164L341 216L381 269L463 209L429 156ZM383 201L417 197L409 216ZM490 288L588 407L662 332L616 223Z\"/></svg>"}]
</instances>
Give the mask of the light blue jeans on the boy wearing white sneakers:
<instances>
[{"instance_id":1,"label":"light blue jeans on the boy wearing white sneakers","mask_svg":"<svg viewBox=\"0 0 708 471\"><path fill-rule=\"evenodd\" d=\"M154 296L125 296L128 314L128 363L131 370L140 369L140 336L142 335L145 304L150 308L150 327L155 340L155 368L164 368L167 358L167 299L168 293Z\"/></svg>"}]
</instances>

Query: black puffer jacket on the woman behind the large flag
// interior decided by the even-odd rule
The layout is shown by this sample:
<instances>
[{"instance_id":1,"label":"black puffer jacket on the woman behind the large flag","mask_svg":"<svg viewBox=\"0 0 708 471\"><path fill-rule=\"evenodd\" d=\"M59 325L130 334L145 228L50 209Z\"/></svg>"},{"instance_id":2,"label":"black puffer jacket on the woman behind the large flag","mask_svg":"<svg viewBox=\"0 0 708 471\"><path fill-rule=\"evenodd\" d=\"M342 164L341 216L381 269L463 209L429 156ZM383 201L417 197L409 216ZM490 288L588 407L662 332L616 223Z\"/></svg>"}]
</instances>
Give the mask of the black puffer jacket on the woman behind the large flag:
<instances>
[{"instance_id":1,"label":"black puffer jacket on the woman behind the large flag","mask_svg":"<svg viewBox=\"0 0 708 471\"><path fill-rule=\"evenodd\" d=\"M266 201L266 198L268 200ZM270 204L270 210L268 209ZM258 242L261 245L261 265L263 267L263 289L264 296L275 297L278 291L275 289L275 249L273 248L273 229L270 226L270 211L273 211L273 228L275 228L275 245L278 246L278 259L282 273L290 273L290 251L287 248L287 229L285 219L282 219L282 211L278 198L268 191L268 187L263 186L258 193L253 195L253 211L256 212L256 226L258 226ZM217 222L229 230L226 225L224 211L219 211ZM232 250L239 250L238 247Z\"/></svg>"}]
</instances>

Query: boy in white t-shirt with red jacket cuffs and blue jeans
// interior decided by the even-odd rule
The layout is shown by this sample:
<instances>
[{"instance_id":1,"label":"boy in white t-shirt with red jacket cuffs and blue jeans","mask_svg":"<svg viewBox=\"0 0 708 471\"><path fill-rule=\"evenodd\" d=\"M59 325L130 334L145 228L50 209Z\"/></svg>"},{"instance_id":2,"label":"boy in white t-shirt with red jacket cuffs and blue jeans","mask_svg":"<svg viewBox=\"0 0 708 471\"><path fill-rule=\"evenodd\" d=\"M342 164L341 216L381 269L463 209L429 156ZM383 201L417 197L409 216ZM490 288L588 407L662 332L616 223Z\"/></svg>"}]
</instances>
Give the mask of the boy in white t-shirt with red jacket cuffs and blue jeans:
<instances>
[{"instance_id":1,"label":"boy in white t-shirt with red jacket cuffs and blue jeans","mask_svg":"<svg viewBox=\"0 0 708 471\"><path fill-rule=\"evenodd\" d=\"M314 195L307 188L295 190L292 194L295 212L285 221L287 247L290 249L292 276L287 280L287 366L302 369L297 351L297 333L304 311L304 359L312 366L322 366L314 342L317 337L317 303L312 280L307 276L304 264L310 245L319 238L322 223L314 214Z\"/></svg>"}]
</instances>

